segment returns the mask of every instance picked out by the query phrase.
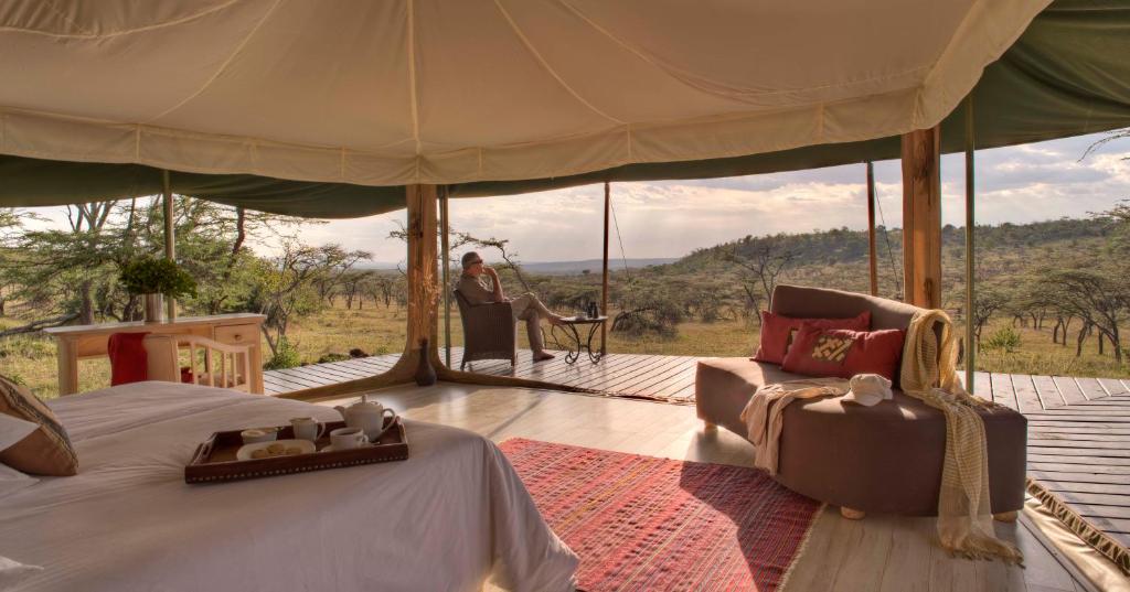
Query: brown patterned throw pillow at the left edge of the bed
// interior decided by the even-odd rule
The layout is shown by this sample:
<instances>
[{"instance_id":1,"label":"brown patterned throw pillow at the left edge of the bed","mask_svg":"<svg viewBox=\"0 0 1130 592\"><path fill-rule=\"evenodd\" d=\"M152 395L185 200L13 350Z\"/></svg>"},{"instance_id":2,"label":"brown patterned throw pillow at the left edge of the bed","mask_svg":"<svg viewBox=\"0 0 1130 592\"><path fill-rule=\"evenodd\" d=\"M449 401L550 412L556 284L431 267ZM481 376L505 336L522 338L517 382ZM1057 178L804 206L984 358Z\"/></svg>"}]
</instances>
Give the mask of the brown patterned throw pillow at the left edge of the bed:
<instances>
[{"instance_id":1,"label":"brown patterned throw pillow at the left edge of the bed","mask_svg":"<svg viewBox=\"0 0 1130 592\"><path fill-rule=\"evenodd\" d=\"M26 388L3 376L0 376L0 413L40 426L24 439L0 451L0 462L32 475L78 473L75 449L55 413Z\"/></svg>"}]
</instances>

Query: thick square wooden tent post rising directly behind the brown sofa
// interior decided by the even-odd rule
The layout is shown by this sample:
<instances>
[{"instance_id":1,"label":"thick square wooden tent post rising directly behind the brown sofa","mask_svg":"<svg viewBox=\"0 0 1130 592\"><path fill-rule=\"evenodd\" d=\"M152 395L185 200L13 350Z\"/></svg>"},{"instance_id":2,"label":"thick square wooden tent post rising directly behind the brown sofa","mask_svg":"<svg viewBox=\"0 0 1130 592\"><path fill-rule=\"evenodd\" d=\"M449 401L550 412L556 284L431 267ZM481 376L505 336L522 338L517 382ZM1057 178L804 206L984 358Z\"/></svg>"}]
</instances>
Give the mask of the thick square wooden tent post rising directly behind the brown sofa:
<instances>
[{"instance_id":1,"label":"thick square wooden tent post rising directly behind the brown sofa","mask_svg":"<svg viewBox=\"0 0 1130 592\"><path fill-rule=\"evenodd\" d=\"M941 130L904 133L903 299L941 307Z\"/></svg>"}]
</instances>

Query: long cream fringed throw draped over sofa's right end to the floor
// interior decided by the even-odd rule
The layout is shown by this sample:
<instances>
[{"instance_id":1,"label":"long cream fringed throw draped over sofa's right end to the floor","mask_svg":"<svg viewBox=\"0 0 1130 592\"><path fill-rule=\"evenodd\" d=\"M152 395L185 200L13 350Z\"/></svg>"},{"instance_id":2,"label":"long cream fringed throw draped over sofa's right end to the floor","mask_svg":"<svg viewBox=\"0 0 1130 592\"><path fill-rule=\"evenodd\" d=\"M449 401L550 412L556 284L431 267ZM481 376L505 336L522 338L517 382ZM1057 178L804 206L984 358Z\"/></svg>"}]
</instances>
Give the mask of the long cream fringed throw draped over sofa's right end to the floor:
<instances>
[{"instance_id":1,"label":"long cream fringed throw draped over sofa's right end to the floor","mask_svg":"<svg viewBox=\"0 0 1130 592\"><path fill-rule=\"evenodd\" d=\"M989 452L977 409L994 403L965 392L958 381L957 343L944 311L920 312L911 320L899 382L907 395L946 415L946 461L938 494L942 547L971 559L1022 563L1020 550L993 533L989 508Z\"/></svg>"}]
</instances>

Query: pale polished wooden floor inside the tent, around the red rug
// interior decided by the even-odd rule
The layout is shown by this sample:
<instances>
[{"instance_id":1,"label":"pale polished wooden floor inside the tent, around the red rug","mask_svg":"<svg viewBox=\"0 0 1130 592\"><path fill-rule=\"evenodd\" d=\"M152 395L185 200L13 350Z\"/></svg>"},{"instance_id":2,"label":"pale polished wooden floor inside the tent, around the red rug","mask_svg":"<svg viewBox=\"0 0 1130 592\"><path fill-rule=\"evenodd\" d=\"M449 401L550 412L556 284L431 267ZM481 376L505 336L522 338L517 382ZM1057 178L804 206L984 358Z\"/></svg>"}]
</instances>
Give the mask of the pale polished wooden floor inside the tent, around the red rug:
<instances>
[{"instance_id":1,"label":"pale polished wooden floor inside the tent, around the red rug","mask_svg":"<svg viewBox=\"0 0 1130 592\"><path fill-rule=\"evenodd\" d=\"M375 397L406 417L470 429L495 442L521 436L680 460L751 464L746 441L725 430L705 432L688 406L445 383L426 389L398 386ZM828 507L817 520L788 590L1093 590L1072 576L1024 519L996 528L1020 546L1026 568L951 558L935 543L933 524L932 519L884 515L849 521Z\"/></svg>"}]
</instances>

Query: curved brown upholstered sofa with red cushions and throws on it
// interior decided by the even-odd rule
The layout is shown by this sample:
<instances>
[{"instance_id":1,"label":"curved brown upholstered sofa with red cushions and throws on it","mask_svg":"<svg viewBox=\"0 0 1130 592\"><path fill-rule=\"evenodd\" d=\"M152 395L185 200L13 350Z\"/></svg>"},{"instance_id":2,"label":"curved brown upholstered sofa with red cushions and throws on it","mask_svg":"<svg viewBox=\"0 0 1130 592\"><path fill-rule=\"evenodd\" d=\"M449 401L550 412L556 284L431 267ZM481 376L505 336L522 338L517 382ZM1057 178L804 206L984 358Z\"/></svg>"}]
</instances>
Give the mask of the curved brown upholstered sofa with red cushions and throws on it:
<instances>
[{"instance_id":1,"label":"curved brown upholstered sofa with red cushions and throws on it","mask_svg":"<svg viewBox=\"0 0 1130 592\"><path fill-rule=\"evenodd\" d=\"M906 329L919 308L840 290L777 286L772 312L840 319L871 312L871 329ZM698 363L698 417L746 437L741 410L758 386L796 380L775 364L748 357ZM1024 505L1027 420L1012 410L981 411L989 444L991 506L1008 515ZM875 407L838 398L794 401L784 411L776 480L842 508L936 515L946 445L941 411L895 390ZM1015 514L1012 514L1015 515Z\"/></svg>"}]
</instances>

